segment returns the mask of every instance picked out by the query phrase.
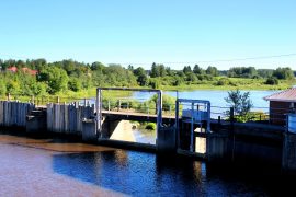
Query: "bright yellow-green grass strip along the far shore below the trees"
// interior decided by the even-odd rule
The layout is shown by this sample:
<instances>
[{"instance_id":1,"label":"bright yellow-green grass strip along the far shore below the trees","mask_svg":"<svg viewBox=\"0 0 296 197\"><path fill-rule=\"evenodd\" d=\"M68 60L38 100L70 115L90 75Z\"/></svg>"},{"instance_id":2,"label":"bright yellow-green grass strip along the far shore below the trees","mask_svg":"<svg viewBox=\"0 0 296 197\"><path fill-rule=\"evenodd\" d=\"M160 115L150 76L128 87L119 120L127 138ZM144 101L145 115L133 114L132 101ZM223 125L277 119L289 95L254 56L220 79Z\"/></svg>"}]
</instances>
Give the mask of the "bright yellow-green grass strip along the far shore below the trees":
<instances>
[{"instance_id":1,"label":"bright yellow-green grass strip along the far shore below the trees","mask_svg":"<svg viewBox=\"0 0 296 197\"><path fill-rule=\"evenodd\" d=\"M219 81L224 81L224 84L219 84ZM189 83L181 84L178 86L159 84L158 89L164 91L194 91L194 90L285 90L296 84L296 80L281 80L277 85L265 84L264 79L242 79L242 78L221 78L217 77L212 81L202 81L198 83ZM139 86L136 86L139 88ZM148 86L145 86L147 89ZM83 99L94 97L96 94L96 88L91 88L88 90L81 90L79 92L73 91L62 91L58 92L55 95L42 95L35 96L34 100L38 102L57 102L59 96L59 102L73 102L81 101ZM133 92L129 91L103 91L104 99L112 97L129 97ZM7 100L5 95L0 96L1 100ZM22 102L32 101L32 96L22 96L22 95L11 95L11 100L19 100Z\"/></svg>"}]
</instances>

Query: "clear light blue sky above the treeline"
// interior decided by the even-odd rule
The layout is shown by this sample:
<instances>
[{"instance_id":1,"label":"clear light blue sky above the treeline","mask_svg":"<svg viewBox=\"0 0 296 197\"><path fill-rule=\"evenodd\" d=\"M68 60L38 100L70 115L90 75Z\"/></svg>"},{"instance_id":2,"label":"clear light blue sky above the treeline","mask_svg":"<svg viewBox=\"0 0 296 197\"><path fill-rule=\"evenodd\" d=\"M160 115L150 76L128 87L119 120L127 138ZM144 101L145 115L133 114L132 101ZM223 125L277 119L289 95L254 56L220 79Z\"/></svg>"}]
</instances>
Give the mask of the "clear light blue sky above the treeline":
<instances>
[{"instance_id":1,"label":"clear light blue sky above the treeline","mask_svg":"<svg viewBox=\"0 0 296 197\"><path fill-rule=\"evenodd\" d=\"M296 70L295 8L295 0L0 0L0 58Z\"/></svg>"}]
</instances>

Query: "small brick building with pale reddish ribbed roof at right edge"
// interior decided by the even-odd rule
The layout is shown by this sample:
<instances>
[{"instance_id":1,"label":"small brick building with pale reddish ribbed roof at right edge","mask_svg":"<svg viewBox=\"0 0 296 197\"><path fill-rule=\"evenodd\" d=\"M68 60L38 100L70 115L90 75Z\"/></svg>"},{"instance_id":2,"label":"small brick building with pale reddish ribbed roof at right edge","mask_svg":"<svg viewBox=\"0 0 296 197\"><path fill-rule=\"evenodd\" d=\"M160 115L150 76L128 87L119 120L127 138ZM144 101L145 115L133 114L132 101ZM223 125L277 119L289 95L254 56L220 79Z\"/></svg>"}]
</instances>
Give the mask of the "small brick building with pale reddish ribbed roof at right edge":
<instances>
[{"instance_id":1,"label":"small brick building with pale reddish ribbed roof at right edge","mask_svg":"<svg viewBox=\"0 0 296 197\"><path fill-rule=\"evenodd\" d=\"M275 125L286 124L286 114L295 113L296 88L291 88L282 92L265 96L270 101L270 120Z\"/></svg>"}]
</instances>

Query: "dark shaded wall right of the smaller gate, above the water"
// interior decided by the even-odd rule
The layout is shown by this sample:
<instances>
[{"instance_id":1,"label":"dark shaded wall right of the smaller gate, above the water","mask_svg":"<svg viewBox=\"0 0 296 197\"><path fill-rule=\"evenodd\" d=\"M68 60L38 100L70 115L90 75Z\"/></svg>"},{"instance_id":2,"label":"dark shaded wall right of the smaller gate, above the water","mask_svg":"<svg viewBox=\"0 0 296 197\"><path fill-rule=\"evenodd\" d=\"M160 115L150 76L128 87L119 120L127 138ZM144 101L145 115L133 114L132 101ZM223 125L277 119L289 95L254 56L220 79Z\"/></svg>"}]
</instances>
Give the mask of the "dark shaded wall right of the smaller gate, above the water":
<instances>
[{"instance_id":1,"label":"dark shaded wall right of the smaller gate, above the water","mask_svg":"<svg viewBox=\"0 0 296 197\"><path fill-rule=\"evenodd\" d=\"M284 129L260 124L234 124L234 127L221 125L213 128L214 132L207 136L209 161L262 162L281 166Z\"/></svg>"}]
</instances>

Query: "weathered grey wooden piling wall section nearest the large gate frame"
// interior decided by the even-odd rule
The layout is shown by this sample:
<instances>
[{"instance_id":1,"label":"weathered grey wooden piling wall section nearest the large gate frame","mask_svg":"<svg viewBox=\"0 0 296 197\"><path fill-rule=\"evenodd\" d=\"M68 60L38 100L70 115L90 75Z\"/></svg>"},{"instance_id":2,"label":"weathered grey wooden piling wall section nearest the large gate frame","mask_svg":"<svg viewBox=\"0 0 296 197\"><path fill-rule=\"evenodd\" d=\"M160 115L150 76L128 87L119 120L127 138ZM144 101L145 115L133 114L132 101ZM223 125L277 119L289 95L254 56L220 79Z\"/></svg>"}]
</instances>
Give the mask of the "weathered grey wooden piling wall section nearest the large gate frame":
<instances>
[{"instance_id":1,"label":"weathered grey wooden piling wall section nearest the large gate frame","mask_svg":"<svg viewBox=\"0 0 296 197\"><path fill-rule=\"evenodd\" d=\"M94 117L94 105L47 104L47 130L82 135L82 119Z\"/></svg>"}]
</instances>

